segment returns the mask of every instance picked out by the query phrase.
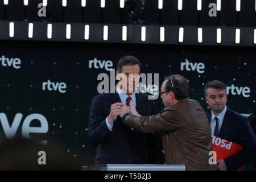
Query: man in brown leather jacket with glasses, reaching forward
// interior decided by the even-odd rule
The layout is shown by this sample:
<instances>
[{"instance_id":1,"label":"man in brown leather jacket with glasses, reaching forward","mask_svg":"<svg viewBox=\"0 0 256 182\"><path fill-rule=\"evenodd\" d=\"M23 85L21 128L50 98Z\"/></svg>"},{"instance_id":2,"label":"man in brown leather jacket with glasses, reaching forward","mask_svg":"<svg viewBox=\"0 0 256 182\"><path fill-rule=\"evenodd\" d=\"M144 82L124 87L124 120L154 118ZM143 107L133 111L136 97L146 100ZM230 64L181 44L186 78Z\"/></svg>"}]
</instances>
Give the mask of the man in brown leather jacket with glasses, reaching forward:
<instances>
[{"instance_id":1,"label":"man in brown leather jacket with glasses, reaching forward","mask_svg":"<svg viewBox=\"0 0 256 182\"><path fill-rule=\"evenodd\" d=\"M122 123L144 133L162 134L166 164L184 164L186 170L216 169L209 164L208 118L199 102L189 99L187 79L180 75L165 78L159 94L165 106L162 113L142 117L134 107L122 106Z\"/></svg>"}]
</instances>

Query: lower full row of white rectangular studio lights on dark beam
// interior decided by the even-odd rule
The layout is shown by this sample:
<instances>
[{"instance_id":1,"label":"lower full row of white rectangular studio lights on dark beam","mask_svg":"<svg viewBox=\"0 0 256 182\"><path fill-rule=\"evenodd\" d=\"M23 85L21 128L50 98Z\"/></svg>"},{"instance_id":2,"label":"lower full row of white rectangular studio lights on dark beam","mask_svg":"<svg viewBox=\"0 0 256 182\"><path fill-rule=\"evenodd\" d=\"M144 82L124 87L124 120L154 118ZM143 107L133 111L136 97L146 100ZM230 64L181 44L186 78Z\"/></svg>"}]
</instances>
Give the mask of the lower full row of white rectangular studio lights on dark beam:
<instances>
[{"instance_id":1,"label":"lower full row of white rectangular studio lights on dark beam","mask_svg":"<svg viewBox=\"0 0 256 182\"><path fill-rule=\"evenodd\" d=\"M108 40L108 31L109 26L103 26L103 40ZM33 32L34 32L34 23L28 24L28 38L33 38ZM90 32L90 26L86 24L84 26L84 39L89 40L89 32ZM160 27L160 36L159 41L164 42L165 41L165 28ZM216 43L221 43L221 28L216 28L216 34L217 39ZM9 36L10 38L14 38L14 22L9 23ZM52 24L47 24L47 38L52 39ZM71 24L66 24L66 39L71 39ZM182 43L184 39L184 28L179 28L179 42ZM122 26L122 40L125 42L127 41L127 26ZM146 41L146 27L141 27L141 41ZM197 41L199 43L203 43L203 28L197 28ZM236 28L236 44L240 44L240 28ZM254 44L256 44L256 29L254 29Z\"/></svg>"}]
</instances>

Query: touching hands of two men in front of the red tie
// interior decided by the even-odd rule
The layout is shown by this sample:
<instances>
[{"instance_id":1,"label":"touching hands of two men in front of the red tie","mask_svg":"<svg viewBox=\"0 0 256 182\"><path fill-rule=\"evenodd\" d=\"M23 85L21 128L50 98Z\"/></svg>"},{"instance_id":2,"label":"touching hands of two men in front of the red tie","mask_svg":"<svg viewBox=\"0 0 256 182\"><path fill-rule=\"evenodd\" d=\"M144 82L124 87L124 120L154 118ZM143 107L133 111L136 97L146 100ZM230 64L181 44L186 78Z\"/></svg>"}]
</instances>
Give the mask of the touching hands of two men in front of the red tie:
<instances>
[{"instance_id":1,"label":"touching hands of two men in front of the red tie","mask_svg":"<svg viewBox=\"0 0 256 182\"><path fill-rule=\"evenodd\" d=\"M115 104L111 105L110 113L108 116L108 121L110 125L113 125L114 121L117 120L117 117L123 117L126 113L130 113L131 115L137 115L141 116L138 114L137 110L135 107L130 107L126 106L125 104L122 104L121 102L117 102Z\"/></svg>"}]
</instances>

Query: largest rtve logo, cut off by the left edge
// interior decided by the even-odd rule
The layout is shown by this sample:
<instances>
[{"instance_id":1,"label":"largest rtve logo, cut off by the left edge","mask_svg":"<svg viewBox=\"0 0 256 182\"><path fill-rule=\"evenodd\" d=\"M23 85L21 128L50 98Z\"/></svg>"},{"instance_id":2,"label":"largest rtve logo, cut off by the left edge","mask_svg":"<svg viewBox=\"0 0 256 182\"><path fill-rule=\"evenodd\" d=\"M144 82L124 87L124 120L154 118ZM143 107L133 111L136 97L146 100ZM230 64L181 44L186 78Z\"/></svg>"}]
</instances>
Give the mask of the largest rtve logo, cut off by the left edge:
<instances>
[{"instance_id":1,"label":"largest rtve logo, cut off by the left edge","mask_svg":"<svg viewBox=\"0 0 256 182\"><path fill-rule=\"evenodd\" d=\"M20 126L20 123L22 122L23 115L21 113L15 114L13 122L8 121L5 113L0 113L0 122L3 127L3 133L5 133L7 139L11 139L15 137L15 134L17 133L17 130ZM31 122L37 120L40 122L40 127L32 127ZM44 117L42 114L30 114L26 118L23 119L22 124L22 136L24 138L30 139L31 133L47 133L48 132L48 122L46 117ZM43 140L39 143L47 144L47 140Z\"/></svg>"}]
</instances>

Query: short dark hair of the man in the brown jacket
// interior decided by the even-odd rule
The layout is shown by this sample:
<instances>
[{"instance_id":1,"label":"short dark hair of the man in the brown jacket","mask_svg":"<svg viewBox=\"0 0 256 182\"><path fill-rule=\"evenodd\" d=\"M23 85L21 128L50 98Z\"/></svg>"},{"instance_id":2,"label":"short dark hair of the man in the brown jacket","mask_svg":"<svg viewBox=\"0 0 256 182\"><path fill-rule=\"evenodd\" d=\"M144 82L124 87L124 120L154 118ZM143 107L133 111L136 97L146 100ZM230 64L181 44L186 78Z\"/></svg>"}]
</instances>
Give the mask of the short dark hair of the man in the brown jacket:
<instances>
[{"instance_id":1,"label":"short dark hair of the man in the brown jacket","mask_svg":"<svg viewBox=\"0 0 256 182\"><path fill-rule=\"evenodd\" d=\"M182 100L189 97L188 80L184 76L171 75L165 77L164 80L167 80L166 91L174 92L176 100Z\"/></svg>"}]
</instances>

